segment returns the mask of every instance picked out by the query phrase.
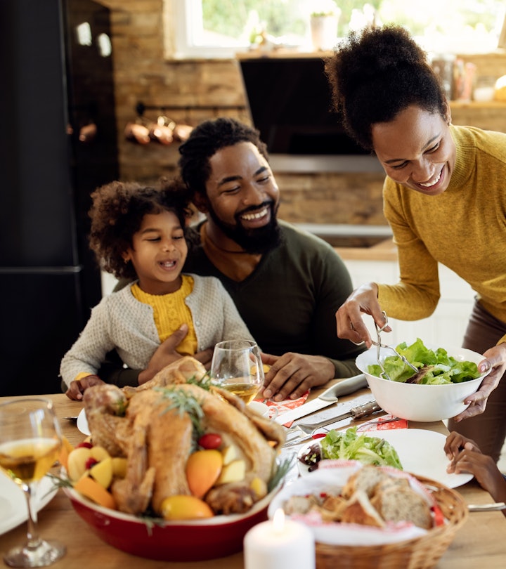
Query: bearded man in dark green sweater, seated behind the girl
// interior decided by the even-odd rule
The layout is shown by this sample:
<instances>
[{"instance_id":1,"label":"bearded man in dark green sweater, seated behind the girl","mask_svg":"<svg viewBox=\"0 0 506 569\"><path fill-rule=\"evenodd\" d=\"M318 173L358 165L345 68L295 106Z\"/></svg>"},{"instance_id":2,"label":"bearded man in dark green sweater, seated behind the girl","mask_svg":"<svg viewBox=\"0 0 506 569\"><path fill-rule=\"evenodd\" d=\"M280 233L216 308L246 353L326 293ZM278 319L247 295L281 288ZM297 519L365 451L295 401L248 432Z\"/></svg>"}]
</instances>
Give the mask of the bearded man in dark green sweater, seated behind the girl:
<instances>
[{"instance_id":1,"label":"bearded man in dark green sweater, seated behind the girl","mask_svg":"<svg viewBox=\"0 0 506 569\"><path fill-rule=\"evenodd\" d=\"M335 377L358 374L363 351L337 337L335 313L352 291L342 259L318 237L278 221L280 194L259 132L219 118L193 129L179 166L195 207L185 273L218 277L263 351L263 395L299 398ZM176 332L153 356L153 370L178 357ZM195 354L205 364L210 351ZM116 382L116 381L115 381Z\"/></svg>"}]
</instances>

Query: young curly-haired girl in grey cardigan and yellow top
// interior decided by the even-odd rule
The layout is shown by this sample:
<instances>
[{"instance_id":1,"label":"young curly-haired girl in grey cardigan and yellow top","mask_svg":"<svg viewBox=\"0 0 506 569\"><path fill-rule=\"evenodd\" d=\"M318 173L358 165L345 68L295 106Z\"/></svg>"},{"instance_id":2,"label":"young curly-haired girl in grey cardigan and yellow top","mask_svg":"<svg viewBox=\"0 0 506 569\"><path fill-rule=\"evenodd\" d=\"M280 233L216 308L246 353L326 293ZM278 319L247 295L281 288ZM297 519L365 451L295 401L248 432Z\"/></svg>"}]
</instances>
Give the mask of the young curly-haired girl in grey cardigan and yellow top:
<instances>
[{"instance_id":1,"label":"young curly-haired girl in grey cardigan and yellow top","mask_svg":"<svg viewBox=\"0 0 506 569\"><path fill-rule=\"evenodd\" d=\"M96 372L116 348L124 364L151 379L155 351L177 330L181 355L213 348L223 339L253 339L238 310L214 277L181 274L188 244L188 195L179 181L160 189L112 182L91 195L90 247L103 270L134 279L91 311L79 339L65 354L60 374L70 399L103 383Z\"/></svg>"}]
</instances>

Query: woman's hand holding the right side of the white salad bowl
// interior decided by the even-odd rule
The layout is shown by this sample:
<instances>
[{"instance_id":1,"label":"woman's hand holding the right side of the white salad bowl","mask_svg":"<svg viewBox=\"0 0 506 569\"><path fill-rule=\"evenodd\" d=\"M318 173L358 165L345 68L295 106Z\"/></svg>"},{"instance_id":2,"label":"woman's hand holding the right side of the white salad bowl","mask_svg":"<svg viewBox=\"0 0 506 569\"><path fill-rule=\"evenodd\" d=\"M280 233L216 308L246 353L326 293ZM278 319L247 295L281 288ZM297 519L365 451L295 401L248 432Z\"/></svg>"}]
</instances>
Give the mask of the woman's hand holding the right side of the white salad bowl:
<instances>
[{"instance_id":1,"label":"woman's hand holding the right side of the white salad bowl","mask_svg":"<svg viewBox=\"0 0 506 569\"><path fill-rule=\"evenodd\" d=\"M469 407L457 417L453 417L457 423L463 419L479 415L486 409L488 395L499 385L499 380L506 371L506 343L493 346L484 353L484 357L485 359L481 360L478 369L481 373L486 372L487 369L491 369L491 372L481 382L479 390L469 395L465 400L464 403Z\"/></svg>"}]
</instances>

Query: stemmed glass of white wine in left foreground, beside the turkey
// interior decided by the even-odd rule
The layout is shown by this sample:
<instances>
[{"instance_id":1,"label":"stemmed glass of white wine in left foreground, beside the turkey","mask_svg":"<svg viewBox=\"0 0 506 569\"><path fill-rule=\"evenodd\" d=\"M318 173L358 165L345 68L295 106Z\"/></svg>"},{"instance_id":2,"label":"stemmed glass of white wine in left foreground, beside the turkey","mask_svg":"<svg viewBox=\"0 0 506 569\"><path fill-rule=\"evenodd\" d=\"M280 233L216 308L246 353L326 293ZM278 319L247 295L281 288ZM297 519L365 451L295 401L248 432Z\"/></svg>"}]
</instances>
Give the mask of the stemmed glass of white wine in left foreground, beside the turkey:
<instances>
[{"instance_id":1,"label":"stemmed glass of white wine in left foreground, beside the turkey","mask_svg":"<svg viewBox=\"0 0 506 569\"><path fill-rule=\"evenodd\" d=\"M61 445L51 400L22 398L0 405L0 470L25 492L28 509L26 544L4 556L10 567L45 567L65 555L63 545L40 539L32 499L39 480L58 459Z\"/></svg>"}]
</instances>

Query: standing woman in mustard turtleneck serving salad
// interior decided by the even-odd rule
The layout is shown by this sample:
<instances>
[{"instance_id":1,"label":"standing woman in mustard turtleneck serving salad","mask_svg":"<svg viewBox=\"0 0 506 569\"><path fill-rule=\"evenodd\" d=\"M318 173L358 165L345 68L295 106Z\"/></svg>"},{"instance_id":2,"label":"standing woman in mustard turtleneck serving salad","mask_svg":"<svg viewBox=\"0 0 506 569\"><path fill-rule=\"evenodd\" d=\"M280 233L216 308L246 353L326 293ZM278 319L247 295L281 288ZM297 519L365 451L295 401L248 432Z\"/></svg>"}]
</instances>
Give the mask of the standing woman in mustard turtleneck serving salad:
<instances>
[{"instance_id":1,"label":"standing woman in mustard turtleneck serving salad","mask_svg":"<svg viewBox=\"0 0 506 569\"><path fill-rule=\"evenodd\" d=\"M479 369L491 372L449 428L497 462L506 435L506 134L451 124L426 54L402 27L351 34L325 70L346 130L387 174L384 214L400 269L398 284L353 291L337 334L370 347L361 313L380 327L382 310L427 318L440 296L438 262L458 273L476 292L463 346L483 353Z\"/></svg>"}]
</instances>

